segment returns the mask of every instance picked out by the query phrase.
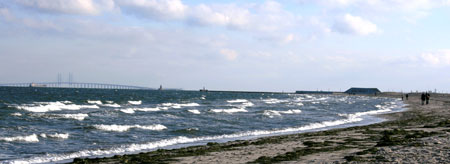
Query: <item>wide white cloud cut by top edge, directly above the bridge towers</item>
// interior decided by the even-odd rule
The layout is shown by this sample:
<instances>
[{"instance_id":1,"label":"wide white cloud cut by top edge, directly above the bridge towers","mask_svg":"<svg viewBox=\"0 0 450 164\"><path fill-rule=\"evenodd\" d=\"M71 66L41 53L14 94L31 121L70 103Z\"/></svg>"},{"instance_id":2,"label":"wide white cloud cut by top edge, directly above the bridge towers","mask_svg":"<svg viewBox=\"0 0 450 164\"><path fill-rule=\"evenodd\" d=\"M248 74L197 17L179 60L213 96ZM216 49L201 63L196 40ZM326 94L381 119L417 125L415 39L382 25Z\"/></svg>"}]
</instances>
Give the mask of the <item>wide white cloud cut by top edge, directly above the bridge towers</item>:
<instances>
[{"instance_id":1,"label":"wide white cloud cut by top edge, directly above the bridge towers","mask_svg":"<svg viewBox=\"0 0 450 164\"><path fill-rule=\"evenodd\" d=\"M111 0L17 0L16 3L39 11L64 14L99 14L103 8L113 8Z\"/></svg>"}]
</instances>

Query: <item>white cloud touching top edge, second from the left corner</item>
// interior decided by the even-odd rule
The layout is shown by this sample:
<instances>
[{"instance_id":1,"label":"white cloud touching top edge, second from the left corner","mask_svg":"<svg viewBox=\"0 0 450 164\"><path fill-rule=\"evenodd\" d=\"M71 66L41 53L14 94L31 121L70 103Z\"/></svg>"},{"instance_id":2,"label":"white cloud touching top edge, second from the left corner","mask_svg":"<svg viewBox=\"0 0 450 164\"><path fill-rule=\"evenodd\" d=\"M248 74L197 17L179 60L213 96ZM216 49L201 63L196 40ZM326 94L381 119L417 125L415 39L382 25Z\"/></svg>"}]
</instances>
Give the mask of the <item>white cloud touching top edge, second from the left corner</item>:
<instances>
[{"instance_id":1,"label":"white cloud touching top edge, second from the left corner","mask_svg":"<svg viewBox=\"0 0 450 164\"><path fill-rule=\"evenodd\" d=\"M182 19L188 9L181 0L116 0L116 3L127 13L157 20Z\"/></svg>"}]
</instances>

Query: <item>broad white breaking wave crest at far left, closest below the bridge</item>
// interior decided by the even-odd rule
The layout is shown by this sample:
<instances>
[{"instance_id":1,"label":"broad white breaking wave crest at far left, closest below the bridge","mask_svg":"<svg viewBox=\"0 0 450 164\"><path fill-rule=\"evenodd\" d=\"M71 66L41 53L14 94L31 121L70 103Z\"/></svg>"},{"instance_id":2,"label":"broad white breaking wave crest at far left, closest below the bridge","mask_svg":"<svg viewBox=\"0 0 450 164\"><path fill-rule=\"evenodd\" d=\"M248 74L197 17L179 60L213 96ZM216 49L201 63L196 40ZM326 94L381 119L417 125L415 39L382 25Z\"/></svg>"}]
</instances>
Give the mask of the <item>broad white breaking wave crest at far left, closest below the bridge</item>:
<instances>
[{"instance_id":1,"label":"broad white breaking wave crest at far left, closest below the bridge","mask_svg":"<svg viewBox=\"0 0 450 164\"><path fill-rule=\"evenodd\" d=\"M64 104L57 102L40 102L34 105L16 106L17 109L22 109L30 112L50 112L60 110L80 110L82 108L98 109L97 105L76 105L76 104Z\"/></svg>"}]
</instances>

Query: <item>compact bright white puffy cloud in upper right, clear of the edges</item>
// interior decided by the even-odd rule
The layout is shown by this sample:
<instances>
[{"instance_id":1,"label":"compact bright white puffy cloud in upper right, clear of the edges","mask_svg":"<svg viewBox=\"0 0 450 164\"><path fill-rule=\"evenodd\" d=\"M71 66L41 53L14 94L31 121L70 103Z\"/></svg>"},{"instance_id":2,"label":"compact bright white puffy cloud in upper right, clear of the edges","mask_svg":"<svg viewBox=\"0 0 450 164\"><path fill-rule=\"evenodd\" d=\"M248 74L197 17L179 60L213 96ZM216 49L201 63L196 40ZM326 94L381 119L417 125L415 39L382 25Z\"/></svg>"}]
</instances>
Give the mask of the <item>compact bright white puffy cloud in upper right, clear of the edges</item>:
<instances>
[{"instance_id":1,"label":"compact bright white puffy cloud in upper right, clear of the edges","mask_svg":"<svg viewBox=\"0 0 450 164\"><path fill-rule=\"evenodd\" d=\"M333 28L337 32L358 35L369 35L378 31L377 25L374 23L350 14L339 18Z\"/></svg>"}]
</instances>

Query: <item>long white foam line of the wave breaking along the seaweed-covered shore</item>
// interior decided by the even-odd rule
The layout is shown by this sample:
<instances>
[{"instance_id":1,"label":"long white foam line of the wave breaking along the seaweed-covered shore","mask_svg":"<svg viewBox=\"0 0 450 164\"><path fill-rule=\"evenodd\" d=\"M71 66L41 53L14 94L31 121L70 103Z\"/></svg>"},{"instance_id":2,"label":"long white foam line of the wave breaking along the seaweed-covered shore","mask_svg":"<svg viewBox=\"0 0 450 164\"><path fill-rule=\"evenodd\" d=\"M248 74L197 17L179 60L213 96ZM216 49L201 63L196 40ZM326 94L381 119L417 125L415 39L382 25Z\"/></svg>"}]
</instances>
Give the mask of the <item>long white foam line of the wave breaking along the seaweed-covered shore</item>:
<instances>
[{"instance_id":1,"label":"long white foam line of the wave breaking along the seaweed-covered shore","mask_svg":"<svg viewBox=\"0 0 450 164\"><path fill-rule=\"evenodd\" d=\"M293 128L285 128L281 130L257 130L257 131L247 131L242 133L235 134L225 134L219 136L206 136L206 137L196 137L196 138L188 138L184 136L175 137L171 139L164 139L155 142L148 142L143 144L129 144L122 145L115 148L110 149L96 149L96 150L82 150L74 153L65 153L65 154L47 154L39 157L32 157L28 159L19 159L13 161L7 161L11 163L49 163L49 162L57 162L62 160L68 160L73 158L80 157L91 157L91 156L105 156L105 155L114 155L114 154L125 154L125 153L135 153L144 150L154 150L157 148L163 148L171 145L177 144L186 144L186 143L195 143L195 142L206 142L206 141L216 141L221 139L233 139L240 137L256 137L262 135L275 135L282 133L293 133L293 132L301 132L306 130L314 130L319 128L325 128L330 126L338 126L342 124L352 123L361 121L361 119L352 118L352 119L343 119L343 120L335 120L335 121L325 121L320 123L312 123L306 126L301 127L293 127Z\"/></svg>"}]
</instances>

